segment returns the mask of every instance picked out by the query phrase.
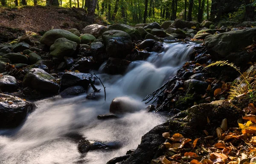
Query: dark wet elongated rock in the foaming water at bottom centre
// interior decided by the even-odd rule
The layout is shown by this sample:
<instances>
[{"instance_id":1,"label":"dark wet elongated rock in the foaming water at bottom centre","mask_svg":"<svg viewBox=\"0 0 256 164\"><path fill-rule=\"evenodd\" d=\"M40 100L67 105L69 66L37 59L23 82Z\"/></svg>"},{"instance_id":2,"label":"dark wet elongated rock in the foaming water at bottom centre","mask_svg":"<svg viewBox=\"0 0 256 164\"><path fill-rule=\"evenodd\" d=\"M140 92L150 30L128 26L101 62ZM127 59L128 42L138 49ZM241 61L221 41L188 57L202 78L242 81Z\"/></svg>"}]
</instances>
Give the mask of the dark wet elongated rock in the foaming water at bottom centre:
<instances>
[{"instance_id":1,"label":"dark wet elongated rock in the foaming water at bottom centre","mask_svg":"<svg viewBox=\"0 0 256 164\"><path fill-rule=\"evenodd\" d=\"M110 149L117 149L119 148L119 143L115 142L101 142L101 141L95 141L95 140L80 140L78 150L81 153L86 153L91 150L110 150Z\"/></svg>"}]
</instances>

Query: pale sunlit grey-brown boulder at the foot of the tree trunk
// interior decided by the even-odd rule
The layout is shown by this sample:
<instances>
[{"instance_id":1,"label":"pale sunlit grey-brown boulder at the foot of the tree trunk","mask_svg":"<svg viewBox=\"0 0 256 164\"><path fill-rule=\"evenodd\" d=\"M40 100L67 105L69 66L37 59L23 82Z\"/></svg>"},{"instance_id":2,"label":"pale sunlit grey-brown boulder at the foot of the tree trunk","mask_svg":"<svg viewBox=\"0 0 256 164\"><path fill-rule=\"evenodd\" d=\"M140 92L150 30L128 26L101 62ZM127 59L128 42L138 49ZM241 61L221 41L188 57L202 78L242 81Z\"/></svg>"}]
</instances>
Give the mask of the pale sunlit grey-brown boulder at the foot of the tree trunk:
<instances>
[{"instance_id":1,"label":"pale sunlit grey-brown boulder at the foot of the tree trunk","mask_svg":"<svg viewBox=\"0 0 256 164\"><path fill-rule=\"evenodd\" d=\"M105 26L99 25L99 24L92 24L86 26L82 33L84 34L91 34L95 36L96 38L100 37L104 32L106 32L108 29Z\"/></svg>"}]
</instances>

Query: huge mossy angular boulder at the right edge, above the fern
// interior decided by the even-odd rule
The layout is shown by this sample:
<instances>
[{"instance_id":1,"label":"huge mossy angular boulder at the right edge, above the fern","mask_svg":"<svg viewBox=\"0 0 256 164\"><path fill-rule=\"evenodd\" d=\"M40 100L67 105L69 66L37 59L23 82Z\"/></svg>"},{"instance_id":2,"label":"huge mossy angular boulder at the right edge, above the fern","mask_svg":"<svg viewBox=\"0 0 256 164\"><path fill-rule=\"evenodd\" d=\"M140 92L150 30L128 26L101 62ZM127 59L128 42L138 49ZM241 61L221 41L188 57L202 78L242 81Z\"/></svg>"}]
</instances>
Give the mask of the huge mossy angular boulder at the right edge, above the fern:
<instances>
[{"instance_id":1,"label":"huge mossy angular boulder at the right edge, above the fern","mask_svg":"<svg viewBox=\"0 0 256 164\"><path fill-rule=\"evenodd\" d=\"M239 51L253 44L253 38L256 38L256 28L209 35L205 38L204 44L207 49L220 57L225 57L230 52Z\"/></svg>"}]
</instances>

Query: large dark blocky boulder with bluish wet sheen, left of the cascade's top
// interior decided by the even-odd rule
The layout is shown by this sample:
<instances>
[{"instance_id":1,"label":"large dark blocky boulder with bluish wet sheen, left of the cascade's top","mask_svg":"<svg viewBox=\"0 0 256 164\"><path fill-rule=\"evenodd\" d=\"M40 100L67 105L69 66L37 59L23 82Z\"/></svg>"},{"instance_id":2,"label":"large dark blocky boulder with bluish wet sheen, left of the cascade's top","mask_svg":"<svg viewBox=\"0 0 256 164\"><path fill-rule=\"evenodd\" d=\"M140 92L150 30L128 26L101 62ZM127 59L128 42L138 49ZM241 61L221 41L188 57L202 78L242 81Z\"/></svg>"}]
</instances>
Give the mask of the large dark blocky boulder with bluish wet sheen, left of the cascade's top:
<instances>
[{"instance_id":1,"label":"large dark blocky boulder with bluish wet sheen, left of the cascade's top","mask_svg":"<svg viewBox=\"0 0 256 164\"><path fill-rule=\"evenodd\" d=\"M102 34L109 57L124 58L133 49L131 36L120 30L109 30Z\"/></svg>"}]
</instances>

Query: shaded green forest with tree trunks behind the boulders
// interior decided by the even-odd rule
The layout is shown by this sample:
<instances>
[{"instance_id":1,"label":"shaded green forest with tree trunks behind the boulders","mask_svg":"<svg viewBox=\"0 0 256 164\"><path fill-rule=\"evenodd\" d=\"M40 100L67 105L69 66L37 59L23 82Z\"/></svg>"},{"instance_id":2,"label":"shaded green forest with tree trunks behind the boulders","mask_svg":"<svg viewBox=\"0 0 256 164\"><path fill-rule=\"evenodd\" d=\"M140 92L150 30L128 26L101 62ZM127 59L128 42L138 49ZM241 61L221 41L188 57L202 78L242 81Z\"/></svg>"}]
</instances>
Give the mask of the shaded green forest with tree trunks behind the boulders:
<instances>
[{"instance_id":1,"label":"shaded green forest with tree trunks behind the boulders","mask_svg":"<svg viewBox=\"0 0 256 164\"><path fill-rule=\"evenodd\" d=\"M198 21L255 20L256 0L0 0L0 6L60 6L82 8L89 23L105 24L158 22L176 18Z\"/></svg>"}]
</instances>

